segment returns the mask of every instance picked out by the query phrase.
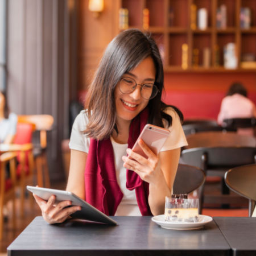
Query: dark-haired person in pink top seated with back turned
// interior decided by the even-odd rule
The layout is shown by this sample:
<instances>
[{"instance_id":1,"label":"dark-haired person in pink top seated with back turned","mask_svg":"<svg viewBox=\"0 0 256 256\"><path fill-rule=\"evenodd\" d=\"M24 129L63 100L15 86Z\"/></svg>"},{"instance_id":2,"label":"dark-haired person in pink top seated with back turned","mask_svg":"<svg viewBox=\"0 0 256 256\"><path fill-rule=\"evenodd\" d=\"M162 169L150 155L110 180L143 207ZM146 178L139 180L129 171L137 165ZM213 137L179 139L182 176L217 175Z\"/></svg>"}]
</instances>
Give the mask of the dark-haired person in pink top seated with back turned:
<instances>
[{"instance_id":1,"label":"dark-haired person in pink top seated with back turned","mask_svg":"<svg viewBox=\"0 0 256 256\"><path fill-rule=\"evenodd\" d=\"M253 117L256 117L256 108L254 103L247 98L245 86L239 82L233 83L221 102L218 124L223 125L224 119ZM254 135L254 129L251 128L238 129L237 132L239 134Z\"/></svg>"}]
</instances>

